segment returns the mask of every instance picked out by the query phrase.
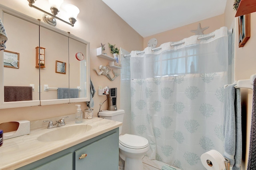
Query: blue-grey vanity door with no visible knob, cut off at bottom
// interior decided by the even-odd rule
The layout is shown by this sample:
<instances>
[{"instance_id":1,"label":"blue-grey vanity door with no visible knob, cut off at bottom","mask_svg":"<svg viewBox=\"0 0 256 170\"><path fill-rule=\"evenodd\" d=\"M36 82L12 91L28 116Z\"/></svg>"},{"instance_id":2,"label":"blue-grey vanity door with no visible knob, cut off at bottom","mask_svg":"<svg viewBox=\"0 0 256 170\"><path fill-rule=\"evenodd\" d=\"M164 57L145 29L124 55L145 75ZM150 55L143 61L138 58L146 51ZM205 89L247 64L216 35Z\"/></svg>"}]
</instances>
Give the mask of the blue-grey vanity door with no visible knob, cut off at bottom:
<instances>
[{"instance_id":1,"label":"blue-grey vanity door with no visible knob, cut off at bottom","mask_svg":"<svg viewBox=\"0 0 256 170\"><path fill-rule=\"evenodd\" d=\"M33 170L72 170L73 168L73 153L66 154L55 160L47 162L41 166L34 168Z\"/></svg>"}]
</instances>

